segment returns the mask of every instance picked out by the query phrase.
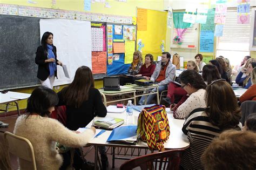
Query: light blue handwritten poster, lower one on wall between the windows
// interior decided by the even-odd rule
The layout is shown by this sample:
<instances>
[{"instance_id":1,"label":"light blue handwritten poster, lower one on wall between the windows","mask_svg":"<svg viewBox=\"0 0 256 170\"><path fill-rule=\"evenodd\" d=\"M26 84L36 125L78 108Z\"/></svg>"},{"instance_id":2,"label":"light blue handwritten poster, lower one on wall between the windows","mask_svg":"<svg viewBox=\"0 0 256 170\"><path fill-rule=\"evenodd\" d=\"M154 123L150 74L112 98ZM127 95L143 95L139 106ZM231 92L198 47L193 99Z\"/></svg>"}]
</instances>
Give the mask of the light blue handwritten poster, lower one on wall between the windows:
<instances>
[{"instance_id":1,"label":"light blue handwritten poster, lower one on wall between the windows","mask_svg":"<svg viewBox=\"0 0 256 170\"><path fill-rule=\"evenodd\" d=\"M200 32L200 52L213 52L214 31Z\"/></svg>"}]
</instances>

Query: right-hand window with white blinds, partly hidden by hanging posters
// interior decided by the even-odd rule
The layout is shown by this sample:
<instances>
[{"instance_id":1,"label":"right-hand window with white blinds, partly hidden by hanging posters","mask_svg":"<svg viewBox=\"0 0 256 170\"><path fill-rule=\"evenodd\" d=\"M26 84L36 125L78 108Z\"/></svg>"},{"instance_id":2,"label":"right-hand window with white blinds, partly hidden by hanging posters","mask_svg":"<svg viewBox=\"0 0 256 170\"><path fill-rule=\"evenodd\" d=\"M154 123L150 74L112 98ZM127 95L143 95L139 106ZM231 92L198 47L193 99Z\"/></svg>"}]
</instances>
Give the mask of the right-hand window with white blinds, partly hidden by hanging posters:
<instances>
[{"instance_id":1,"label":"right-hand window with white blinds, partly hidden by hanging posters","mask_svg":"<svg viewBox=\"0 0 256 170\"><path fill-rule=\"evenodd\" d=\"M217 38L216 56L224 56L231 65L238 65L244 56L249 56L250 24L237 23L237 10L228 10L223 37Z\"/></svg>"}]
</instances>

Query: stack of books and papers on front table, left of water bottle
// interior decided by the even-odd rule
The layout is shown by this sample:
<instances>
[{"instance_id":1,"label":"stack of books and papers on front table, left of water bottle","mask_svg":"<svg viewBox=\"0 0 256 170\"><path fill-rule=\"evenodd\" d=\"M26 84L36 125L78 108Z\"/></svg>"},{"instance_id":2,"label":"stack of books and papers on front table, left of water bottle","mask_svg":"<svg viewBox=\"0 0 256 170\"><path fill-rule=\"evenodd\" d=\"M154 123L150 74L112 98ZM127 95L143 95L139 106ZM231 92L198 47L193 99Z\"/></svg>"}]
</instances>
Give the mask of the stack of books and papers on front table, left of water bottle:
<instances>
[{"instance_id":1,"label":"stack of books and papers on front table, left of water bottle","mask_svg":"<svg viewBox=\"0 0 256 170\"><path fill-rule=\"evenodd\" d=\"M98 126L106 129L116 128L124 123L124 119L119 118L102 118L94 121L93 126Z\"/></svg>"}]
</instances>

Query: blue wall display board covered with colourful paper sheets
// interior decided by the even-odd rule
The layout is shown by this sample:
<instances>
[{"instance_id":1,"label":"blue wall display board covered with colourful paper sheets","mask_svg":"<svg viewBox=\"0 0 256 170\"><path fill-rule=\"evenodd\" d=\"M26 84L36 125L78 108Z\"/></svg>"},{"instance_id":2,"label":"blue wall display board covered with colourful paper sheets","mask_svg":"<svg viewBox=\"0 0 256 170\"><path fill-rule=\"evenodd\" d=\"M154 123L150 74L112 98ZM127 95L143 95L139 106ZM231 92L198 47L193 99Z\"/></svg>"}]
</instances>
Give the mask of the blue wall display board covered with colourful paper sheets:
<instances>
[{"instance_id":1,"label":"blue wall display board covered with colourful paper sheets","mask_svg":"<svg viewBox=\"0 0 256 170\"><path fill-rule=\"evenodd\" d=\"M136 26L107 24L107 75L125 74L132 63Z\"/></svg>"}]
</instances>

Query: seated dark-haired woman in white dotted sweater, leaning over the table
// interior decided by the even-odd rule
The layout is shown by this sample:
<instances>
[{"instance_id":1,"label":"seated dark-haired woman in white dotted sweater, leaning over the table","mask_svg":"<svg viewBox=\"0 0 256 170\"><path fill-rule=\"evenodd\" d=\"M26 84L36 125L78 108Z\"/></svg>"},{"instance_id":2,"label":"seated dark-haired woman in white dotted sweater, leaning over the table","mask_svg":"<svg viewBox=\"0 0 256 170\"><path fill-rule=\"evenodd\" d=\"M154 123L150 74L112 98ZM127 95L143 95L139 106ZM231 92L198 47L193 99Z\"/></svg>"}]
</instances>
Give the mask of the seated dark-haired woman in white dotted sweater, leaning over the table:
<instances>
[{"instance_id":1,"label":"seated dark-haired woman in white dotted sweater, leaning over the table","mask_svg":"<svg viewBox=\"0 0 256 170\"><path fill-rule=\"evenodd\" d=\"M205 104L205 88L201 75L195 70L186 70L180 74L181 88L184 89L188 98L181 101L173 108L173 117L176 119L186 118L195 108L204 108ZM181 103L183 102L184 103ZM170 106L171 108L171 106Z\"/></svg>"}]
</instances>

